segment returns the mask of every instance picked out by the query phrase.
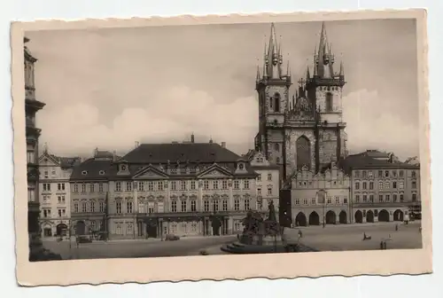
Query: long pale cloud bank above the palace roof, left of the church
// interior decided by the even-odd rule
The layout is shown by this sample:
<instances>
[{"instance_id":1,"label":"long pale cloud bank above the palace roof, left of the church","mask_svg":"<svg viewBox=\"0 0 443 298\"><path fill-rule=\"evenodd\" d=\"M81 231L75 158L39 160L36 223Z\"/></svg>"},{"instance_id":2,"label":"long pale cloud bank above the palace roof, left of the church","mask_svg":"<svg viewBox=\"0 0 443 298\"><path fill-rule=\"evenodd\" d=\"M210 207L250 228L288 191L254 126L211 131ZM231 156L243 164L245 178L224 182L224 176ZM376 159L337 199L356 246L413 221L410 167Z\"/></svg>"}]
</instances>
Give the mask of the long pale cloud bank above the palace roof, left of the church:
<instances>
[{"instance_id":1,"label":"long pale cloud bank above the palace roof, left of the church","mask_svg":"<svg viewBox=\"0 0 443 298\"><path fill-rule=\"evenodd\" d=\"M254 97L237 98L229 104L215 102L203 90L179 85L146 98L143 107L128 107L109 127L101 124L106 113L87 103L53 107L39 112L42 142L57 154L91 153L91 148L127 152L136 141L182 141L191 132L196 141L228 141L250 144L258 126L258 105ZM45 133L45 132L48 133ZM49 133L51 132L51 133Z\"/></svg>"}]
</instances>

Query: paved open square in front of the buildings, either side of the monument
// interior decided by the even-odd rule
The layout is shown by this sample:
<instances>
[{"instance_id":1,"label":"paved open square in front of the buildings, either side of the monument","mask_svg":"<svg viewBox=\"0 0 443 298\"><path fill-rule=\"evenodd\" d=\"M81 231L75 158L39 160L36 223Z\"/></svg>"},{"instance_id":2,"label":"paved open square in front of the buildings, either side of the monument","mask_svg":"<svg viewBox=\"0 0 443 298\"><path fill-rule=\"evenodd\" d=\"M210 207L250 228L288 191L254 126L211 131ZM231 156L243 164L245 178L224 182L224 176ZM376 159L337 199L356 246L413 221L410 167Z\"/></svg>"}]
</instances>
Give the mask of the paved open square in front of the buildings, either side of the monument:
<instances>
[{"instance_id":1,"label":"paved open square in front of the buildings, either side of the monument","mask_svg":"<svg viewBox=\"0 0 443 298\"><path fill-rule=\"evenodd\" d=\"M395 231L395 225L398 231ZM300 241L307 247L320 251L373 250L380 249L380 241L387 240L387 249L421 248L422 234L420 222L409 223L363 223L300 227L285 229L286 238L290 241L298 239L299 231L303 237ZM363 241L363 233L371 239ZM237 237L189 237L177 241L161 241L160 239L128 239L108 242L97 241L82 243L79 247L75 241L44 241L44 247L60 254L63 259L97 259L127 257L158 257L199 255L205 250L207 255L224 255L220 247L236 241Z\"/></svg>"}]
</instances>

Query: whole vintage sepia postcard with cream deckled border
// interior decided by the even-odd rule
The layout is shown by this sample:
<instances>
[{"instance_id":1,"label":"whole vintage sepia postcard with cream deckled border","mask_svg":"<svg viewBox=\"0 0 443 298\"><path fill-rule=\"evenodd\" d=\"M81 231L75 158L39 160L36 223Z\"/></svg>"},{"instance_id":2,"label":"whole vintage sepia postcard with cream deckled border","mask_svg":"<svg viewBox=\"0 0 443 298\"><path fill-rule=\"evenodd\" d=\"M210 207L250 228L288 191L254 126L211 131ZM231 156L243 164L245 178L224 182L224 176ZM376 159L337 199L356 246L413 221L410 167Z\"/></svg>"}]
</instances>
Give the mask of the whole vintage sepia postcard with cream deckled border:
<instances>
[{"instance_id":1,"label":"whole vintage sepia postcard with cream deckled border","mask_svg":"<svg viewBox=\"0 0 443 298\"><path fill-rule=\"evenodd\" d=\"M431 272L425 21L12 23L19 284Z\"/></svg>"}]
</instances>

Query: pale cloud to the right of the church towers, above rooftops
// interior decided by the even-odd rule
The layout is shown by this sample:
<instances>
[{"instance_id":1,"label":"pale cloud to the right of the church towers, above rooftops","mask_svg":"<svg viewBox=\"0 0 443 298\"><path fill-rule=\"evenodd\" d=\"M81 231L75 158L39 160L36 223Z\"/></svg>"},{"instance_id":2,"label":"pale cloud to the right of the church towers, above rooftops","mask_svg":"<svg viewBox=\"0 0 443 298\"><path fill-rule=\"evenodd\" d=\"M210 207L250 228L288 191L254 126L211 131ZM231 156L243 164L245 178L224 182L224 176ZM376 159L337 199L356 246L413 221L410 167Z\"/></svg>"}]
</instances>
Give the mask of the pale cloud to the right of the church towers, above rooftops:
<instances>
[{"instance_id":1,"label":"pale cloud to the right of the church towers, above rooftops","mask_svg":"<svg viewBox=\"0 0 443 298\"><path fill-rule=\"evenodd\" d=\"M382 98L375 90L357 90L343 98L343 108L350 151L379 149L401 159L417 154L418 125L400 117L401 106L392 106L392 98Z\"/></svg>"}]
</instances>

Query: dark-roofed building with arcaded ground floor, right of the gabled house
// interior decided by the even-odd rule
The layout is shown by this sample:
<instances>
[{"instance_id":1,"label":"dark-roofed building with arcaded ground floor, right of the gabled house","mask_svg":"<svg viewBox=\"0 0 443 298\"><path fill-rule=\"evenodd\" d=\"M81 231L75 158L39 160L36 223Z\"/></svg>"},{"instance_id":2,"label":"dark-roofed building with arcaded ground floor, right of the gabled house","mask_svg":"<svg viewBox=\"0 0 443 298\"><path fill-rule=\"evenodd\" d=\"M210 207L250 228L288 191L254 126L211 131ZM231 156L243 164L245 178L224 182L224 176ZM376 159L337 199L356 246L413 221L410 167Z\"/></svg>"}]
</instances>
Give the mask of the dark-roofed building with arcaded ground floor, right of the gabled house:
<instances>
[{"instance_id":1,"label":"dark-roofed building with arcaded ground floor, right of the gabled house","mask_svg":"<svg viewBox=\"0 0 443 298\"><path fill-rule=\"evenodd\" d=\"M403 221L411 208L421 204L420 168L372 154L354 154L343 161L352 176L353 223Z\"/></svg>"}]
</instances>

